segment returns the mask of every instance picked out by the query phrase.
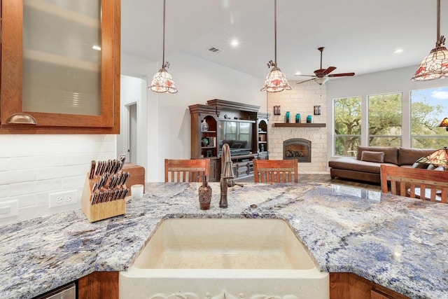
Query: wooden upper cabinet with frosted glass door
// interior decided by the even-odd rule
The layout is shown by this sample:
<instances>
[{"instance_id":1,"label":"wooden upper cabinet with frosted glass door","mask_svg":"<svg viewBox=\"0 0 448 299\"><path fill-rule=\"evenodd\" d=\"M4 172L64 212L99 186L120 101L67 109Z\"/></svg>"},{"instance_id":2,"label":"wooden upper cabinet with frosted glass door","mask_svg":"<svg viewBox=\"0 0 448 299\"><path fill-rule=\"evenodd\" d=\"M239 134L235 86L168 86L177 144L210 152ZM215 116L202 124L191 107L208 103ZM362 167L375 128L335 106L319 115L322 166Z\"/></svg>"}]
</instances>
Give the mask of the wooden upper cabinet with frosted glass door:
<instances>
[{"instance_id":1,"label":"wooden upper cabinet with frosted glass door","mask_svg":"<svg viewBox=\"0 0 448 299\"><path fill-rule=\"evenodd\" d=\"M1 0L0 76L0 134L118 134L120 0Z\"/></svg>"}]
</instances>

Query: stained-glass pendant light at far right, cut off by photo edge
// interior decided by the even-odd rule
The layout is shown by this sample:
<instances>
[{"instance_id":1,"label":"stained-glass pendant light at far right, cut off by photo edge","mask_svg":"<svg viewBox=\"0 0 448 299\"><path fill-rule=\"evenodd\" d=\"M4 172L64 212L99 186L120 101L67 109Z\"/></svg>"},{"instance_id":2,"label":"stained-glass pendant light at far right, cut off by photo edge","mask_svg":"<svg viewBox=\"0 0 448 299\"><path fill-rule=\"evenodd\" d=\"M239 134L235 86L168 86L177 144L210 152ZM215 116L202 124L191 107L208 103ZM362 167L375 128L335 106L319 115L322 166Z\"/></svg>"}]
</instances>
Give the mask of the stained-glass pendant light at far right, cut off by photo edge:
<instances>
[{"instance_id":1,"label":"stained-glass pendant light at far right, cut off by photo edge","mask_svg":"<svg viewBox=\"0 0 448 299\"><path fill-rule=\"evenodd\" d=\"M421 61L412 81L428 81L448 77L448 50L443 45L444 36L440 35L440 0L437 0L437 41L435 48Z\"/></svg>"}]
</instances>

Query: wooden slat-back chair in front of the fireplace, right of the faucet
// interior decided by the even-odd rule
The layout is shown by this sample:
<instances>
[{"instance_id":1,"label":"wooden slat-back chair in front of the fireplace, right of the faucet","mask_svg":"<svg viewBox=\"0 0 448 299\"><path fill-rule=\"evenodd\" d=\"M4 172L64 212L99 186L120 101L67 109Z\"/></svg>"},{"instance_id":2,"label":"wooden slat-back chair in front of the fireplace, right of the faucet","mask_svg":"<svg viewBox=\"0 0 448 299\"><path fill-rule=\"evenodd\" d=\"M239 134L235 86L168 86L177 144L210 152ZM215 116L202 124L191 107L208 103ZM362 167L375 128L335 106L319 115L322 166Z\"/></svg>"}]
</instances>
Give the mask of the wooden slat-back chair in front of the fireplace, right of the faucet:
<instances>
[{"instance_id":1,"label":"wooden slat-back chair in front of the fireplace, right of the faucet","mask_svg":"<svg viewBox=\"0 0 448 299\"><path fill-rule=\"evenodd\" d=\"M253 160L255 183L297 183L297 160Z\"/></svg>"}]
</instances>

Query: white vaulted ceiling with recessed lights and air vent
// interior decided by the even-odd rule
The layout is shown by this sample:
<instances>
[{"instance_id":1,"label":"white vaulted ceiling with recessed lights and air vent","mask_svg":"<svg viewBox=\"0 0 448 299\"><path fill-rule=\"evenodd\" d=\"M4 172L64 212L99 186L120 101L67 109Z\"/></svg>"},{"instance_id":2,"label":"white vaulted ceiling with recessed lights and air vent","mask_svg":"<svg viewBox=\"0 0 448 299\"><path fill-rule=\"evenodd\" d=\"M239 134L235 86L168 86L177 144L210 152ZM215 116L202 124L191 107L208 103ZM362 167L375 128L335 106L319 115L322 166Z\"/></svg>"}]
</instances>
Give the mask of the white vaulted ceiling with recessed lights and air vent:
<instances>
[{"instance_id":1,"label":"white vaulted ceiling with recessed lights and air vent","mask_svg":"<svg viewBox=\"0 0 448 299\"><path fill-rule=\"evenodd\" d=\"M162 15L163 0L122 0L122 52L160 62ZM167 60L183 52L259 78L274 60L274 0L167 0L166 21ZM448 36L446 0L440 32ZM277 0L277 64L289 80L319 69L322 46L334 74L418 65L436 35L435 0Z\"/></svg>"}]
</instances>

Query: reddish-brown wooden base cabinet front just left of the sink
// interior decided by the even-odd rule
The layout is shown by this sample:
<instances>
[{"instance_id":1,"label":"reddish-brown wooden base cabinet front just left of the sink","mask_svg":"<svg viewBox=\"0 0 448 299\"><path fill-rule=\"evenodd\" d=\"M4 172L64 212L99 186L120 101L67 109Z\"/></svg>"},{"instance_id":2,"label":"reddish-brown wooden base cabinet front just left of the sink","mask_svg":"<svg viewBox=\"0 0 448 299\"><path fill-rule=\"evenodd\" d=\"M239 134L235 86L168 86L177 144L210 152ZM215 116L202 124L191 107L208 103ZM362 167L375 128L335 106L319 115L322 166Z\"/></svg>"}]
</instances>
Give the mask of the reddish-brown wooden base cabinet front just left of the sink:
<instances>
[{"instance_id":1,"label":"reddish-brown wooden base cabinet front just left of the sink","mask_svg":"<svg viewBox=\"0 0 448 299\"><path fill-rule=\"evenodd\" d=\"M78 280L78 299L118 299L120 272L93 272Z\"/></svg>"}]
</instances>

